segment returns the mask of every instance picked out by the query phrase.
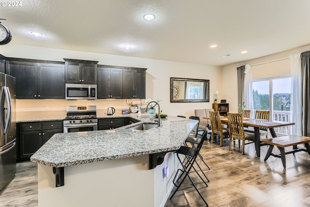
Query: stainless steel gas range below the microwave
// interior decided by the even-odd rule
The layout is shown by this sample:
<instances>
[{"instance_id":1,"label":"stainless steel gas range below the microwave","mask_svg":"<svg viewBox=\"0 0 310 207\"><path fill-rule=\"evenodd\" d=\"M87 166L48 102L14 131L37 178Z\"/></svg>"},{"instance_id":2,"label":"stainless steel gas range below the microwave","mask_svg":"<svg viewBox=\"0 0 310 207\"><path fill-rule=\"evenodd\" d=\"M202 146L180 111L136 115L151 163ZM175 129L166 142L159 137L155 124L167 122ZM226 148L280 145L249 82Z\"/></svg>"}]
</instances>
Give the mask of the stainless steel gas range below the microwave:
<instances>
[{"instance_id":1,"label":"stainless steel gas range below the microwave","mask_svg":"<svg viewBox=\"0 0 310 207\"><path fill-rule=\"evenodd\" d=\"M96 131L97 122L96 106L67 106L63 132Z\"/></svg>"}]
</instances>

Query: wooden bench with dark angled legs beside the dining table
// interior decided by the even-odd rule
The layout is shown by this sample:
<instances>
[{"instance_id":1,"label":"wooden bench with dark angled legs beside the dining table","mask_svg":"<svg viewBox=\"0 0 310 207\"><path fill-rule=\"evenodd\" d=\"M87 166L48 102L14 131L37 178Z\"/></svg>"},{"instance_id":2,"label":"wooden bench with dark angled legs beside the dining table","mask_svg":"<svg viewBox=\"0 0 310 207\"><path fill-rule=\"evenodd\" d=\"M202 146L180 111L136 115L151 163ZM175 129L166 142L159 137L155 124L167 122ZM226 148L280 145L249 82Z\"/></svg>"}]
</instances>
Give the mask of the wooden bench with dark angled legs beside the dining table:
<instances>
[{"instance_id":1,"label":"wooden bench with dark angled legs beside the dining table","mask_svg":"<svg viewBox=\"0 0 310 207\"><path fill-rule=\"evenodd\" d=\"M266 157L264 161L266 161L270 155L281 158L283 167L286 168L286 160L285 160L285 155L287 154L294 154L295 152L300 152L300 151L305 151L308 152L310 155L310 137L304 137L304 136L298 136L298 135L289 135L289 136L284 136L284 137L275 137L271 139L263 139L261 140L263 143L266 143L270 145ZM304 144L306 149L304 148L298 148L297 144ZM280 150L280 154L275 155L272 153L272 149L274 146L277 146L278 149ZM293 146L293 150L289 152L285 152L285 147L288 146Z\"/></svg>"}]
</instances>

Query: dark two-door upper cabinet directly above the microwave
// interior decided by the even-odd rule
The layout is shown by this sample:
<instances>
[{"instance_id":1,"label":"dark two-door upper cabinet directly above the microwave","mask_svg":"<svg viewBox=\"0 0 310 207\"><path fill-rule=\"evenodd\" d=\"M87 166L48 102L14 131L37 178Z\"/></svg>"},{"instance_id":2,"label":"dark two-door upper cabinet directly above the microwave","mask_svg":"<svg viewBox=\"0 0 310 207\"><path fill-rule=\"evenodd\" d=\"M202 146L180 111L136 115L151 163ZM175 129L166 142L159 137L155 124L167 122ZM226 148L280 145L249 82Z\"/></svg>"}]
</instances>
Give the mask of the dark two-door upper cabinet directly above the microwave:
<instances>
[{"instance_id":1,"label":"dark two-door upper cabinet directly above the microwave","mask_svg":"<svg viewBox=\"0 0 310 207\"><path fill-rule=\"evenodd\" d=\"M63 59L65 83L97 84L98 61Z\"/></svg>"}]
</instances>

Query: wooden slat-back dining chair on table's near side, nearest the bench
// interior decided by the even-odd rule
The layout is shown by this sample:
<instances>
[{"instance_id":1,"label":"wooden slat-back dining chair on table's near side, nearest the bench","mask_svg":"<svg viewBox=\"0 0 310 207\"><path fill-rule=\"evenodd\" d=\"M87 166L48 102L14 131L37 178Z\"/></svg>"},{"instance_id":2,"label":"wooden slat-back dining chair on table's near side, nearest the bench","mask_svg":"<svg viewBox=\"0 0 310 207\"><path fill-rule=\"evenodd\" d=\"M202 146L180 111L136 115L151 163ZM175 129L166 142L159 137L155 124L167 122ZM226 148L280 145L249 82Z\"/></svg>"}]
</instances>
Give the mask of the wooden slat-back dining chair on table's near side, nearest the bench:
<instances>
[{"instance_id":1,"label":"wooden slat-back dining chair on table's near side, nearest the bench","mask_svg":"<svg viewBox=\"0 0 310 207\"><path fill-rule=\"evenodd\" d=\"M227 113L227 115L228 115L228 128L230 133L229 150L231 150L233 139L241 140L242 155L243 155L244 146L249 143L254 143L255 135L253 133L248 133L244 131L241 113ZM248 140L247 143L246 140ZM239 148L240 148L240 142L239 142Z\"/></svg>"}]
</instances>

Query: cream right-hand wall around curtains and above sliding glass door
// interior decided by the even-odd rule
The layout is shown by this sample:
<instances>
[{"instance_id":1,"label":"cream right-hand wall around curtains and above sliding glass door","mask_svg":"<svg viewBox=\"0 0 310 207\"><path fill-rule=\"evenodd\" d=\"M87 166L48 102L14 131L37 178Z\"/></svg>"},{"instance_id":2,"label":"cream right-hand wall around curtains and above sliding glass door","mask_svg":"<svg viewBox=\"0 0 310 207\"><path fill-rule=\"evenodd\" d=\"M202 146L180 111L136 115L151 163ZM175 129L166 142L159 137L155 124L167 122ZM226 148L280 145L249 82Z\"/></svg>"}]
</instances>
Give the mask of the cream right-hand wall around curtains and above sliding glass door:
<instances>
[{"instance_id":1,"label":"cream right-hand wall around curtains and above sliding glass door","mask_svg":"<svg viewBox=\"0 0 310 207\"><path fill-rule=\"evenodd\" d=\"M237 104L238 103L238 99L237 99L238 90L237 90L237 69L236 69L237 67L240 67L246 64L253 65L253 64L261 64L265 62L279 60L282 58L287 58L290 55L293 55L299 52L305 52L308 50L310 50L310 45L223 67L222 89L223 89L224 95L227 97L227 102L230 103L229 111L233 113L236 113L238 111L237 109L238 108L238 104ZM290 68L291 68L290 61L283 60L283 61L279 61L279 63L274 62L270 64L261 64L258 66L253 66L251 69L252 69L252 75L254 74L255 78L266 78L266 77L288 75L290 74Z\"/></svg>"}]
</instances>

